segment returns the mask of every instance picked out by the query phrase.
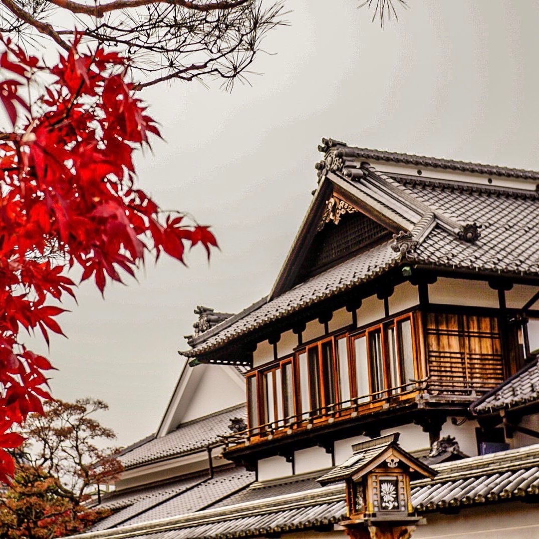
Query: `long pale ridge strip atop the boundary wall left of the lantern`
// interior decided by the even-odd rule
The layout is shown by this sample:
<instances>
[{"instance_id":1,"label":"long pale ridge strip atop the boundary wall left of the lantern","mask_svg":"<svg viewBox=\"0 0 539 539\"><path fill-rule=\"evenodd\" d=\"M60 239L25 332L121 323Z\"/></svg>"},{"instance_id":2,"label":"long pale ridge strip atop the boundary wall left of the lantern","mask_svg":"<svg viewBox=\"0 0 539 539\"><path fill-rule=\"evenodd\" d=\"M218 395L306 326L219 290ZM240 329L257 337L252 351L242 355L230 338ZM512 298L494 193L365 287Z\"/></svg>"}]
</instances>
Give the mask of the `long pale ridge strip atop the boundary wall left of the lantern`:
<instances>
[{"instance_id":1,"label":"long pale ridge strip atop the boundary wall left of the lantern","mask_svg":"<svg viewBox=\"0 0 539 539\"><path fill-rule=\"evenodd\" d=\"M323 490L323 493L316 492L317 490ZM329 491L329 492L328 492ZM185 513L184 515L178 515L174 517L169 517L168 519L159 519L154 521L147 521L137 524L130 524L129 526L124 526L122 528L100 530L100 531L91 531L79 535L71 535L67 539L98 539L105 537L123 537L123 536L132 536L133 533L142 535L148 533L156 533L157 531L166 531L171 529L171 527L181 525L181 524L197 524L198 521L203 521L204 523L209 523L212 519L219 519L223 515L229 514L230 509L240 509L239 511L234 510L234 518L240 516L247 516L252 514L252 512L259 512L260 508L272 509L276 508L279 510L292 509L294 507L302 507L306 505L317 505L317 503L327 503L333 501L342 501L342 494L344 493L344 486L331 486L325 488L305 490L299 493L286 494L281 496L272 496L262 500L257 500L256 503L253 502L243 502L237 503L230 506L219 507L216 509L205 509L203 511ZM317 495L319 494L319 495ZM323 495L321 495L323 494ZM307 500L306 500L307 496ZM279 501L284 500L284 504L279 505ZM289 501L289 503L286 503ZM269 503L268 503L269 502ZM245 510L242 512L241 508ZM265 511L264 513L271 513L271 510ZM129 535L124 535L129 534Z\"/></svg>"}]
</instances>

